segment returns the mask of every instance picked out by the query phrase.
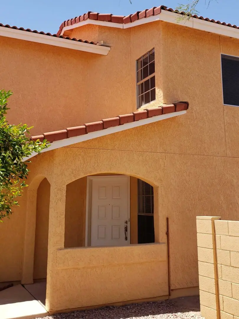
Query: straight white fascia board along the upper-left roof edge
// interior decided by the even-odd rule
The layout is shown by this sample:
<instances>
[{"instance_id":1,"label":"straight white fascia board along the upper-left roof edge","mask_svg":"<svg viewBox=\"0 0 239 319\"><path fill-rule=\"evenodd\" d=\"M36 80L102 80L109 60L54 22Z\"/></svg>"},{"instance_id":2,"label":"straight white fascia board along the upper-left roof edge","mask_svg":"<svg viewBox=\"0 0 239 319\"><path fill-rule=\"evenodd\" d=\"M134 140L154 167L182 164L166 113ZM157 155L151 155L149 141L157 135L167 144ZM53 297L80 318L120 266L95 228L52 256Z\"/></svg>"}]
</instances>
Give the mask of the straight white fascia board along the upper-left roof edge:
<instances>
[{"instance_id":1,"label":"straight white fascia board along the upper-left roof edge","mask_svg":"<svg viewBox=\"0 0 239 319\"><path fill-rule=\"evenodd\" d=\"M19 40L38 42L43 44L49 44L49 45L54 45L56 47L68 48L73 50L91 52L91 53L101 54L105 56L110 51L110 48L104 47L101 45L62 39L62 38L57 38L57 37L40 34L40 33L33 33L28 31L6 28L4 26L0 26L0 36L19 39Z\"/></svg>"}]
</instances>

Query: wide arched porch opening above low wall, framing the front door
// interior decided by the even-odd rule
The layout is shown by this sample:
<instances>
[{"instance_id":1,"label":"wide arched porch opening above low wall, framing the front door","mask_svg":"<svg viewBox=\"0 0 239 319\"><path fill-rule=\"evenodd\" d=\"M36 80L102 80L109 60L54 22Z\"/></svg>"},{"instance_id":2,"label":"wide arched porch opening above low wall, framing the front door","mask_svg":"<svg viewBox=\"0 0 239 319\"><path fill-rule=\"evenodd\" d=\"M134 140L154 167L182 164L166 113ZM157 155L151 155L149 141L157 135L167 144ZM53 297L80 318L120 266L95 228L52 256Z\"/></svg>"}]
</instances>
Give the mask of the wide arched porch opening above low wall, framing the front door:
<instances>
[{"instance_id":1,"label":"wide arched porch opening above low wall, framing the front door","mask_svg":"<svg viewBox=\"0 0 239 319\"><path fill-rule=\"evenodd\" d=\"M102 173L67 185L65 248L154 241L154 190L149 183Z\"/></svg>"}]
</instances>

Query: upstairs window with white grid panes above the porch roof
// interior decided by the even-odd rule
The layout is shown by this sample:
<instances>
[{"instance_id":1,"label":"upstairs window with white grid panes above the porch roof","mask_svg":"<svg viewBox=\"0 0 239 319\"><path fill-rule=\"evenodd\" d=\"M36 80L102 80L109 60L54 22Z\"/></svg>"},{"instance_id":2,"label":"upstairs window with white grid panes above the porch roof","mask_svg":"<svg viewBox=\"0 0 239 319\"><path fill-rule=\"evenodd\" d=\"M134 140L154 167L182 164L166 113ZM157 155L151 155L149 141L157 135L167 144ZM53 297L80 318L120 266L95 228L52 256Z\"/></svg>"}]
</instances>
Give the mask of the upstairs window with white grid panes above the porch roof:
<instances>
[{"instance_id":1,"label":"upstairs window with white grid panes above the porch roof","mask_svg":"<svg viewBox=\"0 0 239 319\"><path fill-rule=\"evenodd\" d=\"M137 108L155 100L154 48L136 61Z\"/></svg>"}]
</instances>

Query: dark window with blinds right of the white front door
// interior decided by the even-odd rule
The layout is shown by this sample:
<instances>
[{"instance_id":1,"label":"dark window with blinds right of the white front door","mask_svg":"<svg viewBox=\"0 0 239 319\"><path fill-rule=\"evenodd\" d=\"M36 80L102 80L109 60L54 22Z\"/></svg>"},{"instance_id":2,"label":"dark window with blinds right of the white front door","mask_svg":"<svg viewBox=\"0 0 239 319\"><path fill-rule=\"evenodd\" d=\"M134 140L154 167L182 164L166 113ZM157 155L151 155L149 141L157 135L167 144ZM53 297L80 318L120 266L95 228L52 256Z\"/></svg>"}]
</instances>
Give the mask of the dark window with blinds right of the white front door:
<instances>
[{"instance_id":1,"label":"dark window with blinds right of the white front door","mask_svg":"<svg viewBox=\"0 0 239 319\"><path fill-rule=\"evenodd\" d=\"M154 242L154 189L138 180L138 243Z\"/></svg>"}]
</instances>

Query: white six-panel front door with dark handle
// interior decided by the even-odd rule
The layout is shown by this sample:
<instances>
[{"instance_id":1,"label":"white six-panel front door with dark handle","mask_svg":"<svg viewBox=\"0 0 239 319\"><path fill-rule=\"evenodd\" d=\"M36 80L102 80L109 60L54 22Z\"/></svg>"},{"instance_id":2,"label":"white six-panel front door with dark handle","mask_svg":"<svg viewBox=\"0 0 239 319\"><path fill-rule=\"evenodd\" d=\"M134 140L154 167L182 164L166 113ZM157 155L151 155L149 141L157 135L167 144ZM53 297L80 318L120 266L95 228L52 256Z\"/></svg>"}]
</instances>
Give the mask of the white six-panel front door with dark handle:
<instances>
[{"instance_id":1,"label":"white six-panel front door with dark handle","mask_svg":"<svg viewBox=\"0 0 239 319\"><path fill-rule=\"evenodd\" d=\"M90 181L89 181L90 180ZM129 242L129 177L122 175L92 176L88 246L127 246ZM125 225L127 223L127 239Z\"/></svg>"}]
</instances>

